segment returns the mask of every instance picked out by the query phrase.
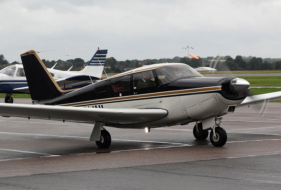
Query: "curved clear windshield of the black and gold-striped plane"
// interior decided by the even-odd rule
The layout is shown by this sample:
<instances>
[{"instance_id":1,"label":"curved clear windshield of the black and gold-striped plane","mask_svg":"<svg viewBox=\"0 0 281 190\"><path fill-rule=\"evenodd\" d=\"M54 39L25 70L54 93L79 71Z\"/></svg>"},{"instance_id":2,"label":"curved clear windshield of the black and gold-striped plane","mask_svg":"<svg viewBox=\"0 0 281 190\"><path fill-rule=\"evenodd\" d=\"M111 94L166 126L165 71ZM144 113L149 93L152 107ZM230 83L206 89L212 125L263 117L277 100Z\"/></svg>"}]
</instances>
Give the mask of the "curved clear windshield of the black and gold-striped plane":
<instances>
[{"instance_id":1,"label":"curved clear windshield of the black and gold-striped plane","mask_svg":"<svg viewBox=\"0 0 281 190\"><path fill-rule=\"evenodd\" d=\"M155 71L158 76L160 85L168 84L171 81L179 78L203 76L189 65L163 66L155 69Z\"/></svg>"}]
</instances>

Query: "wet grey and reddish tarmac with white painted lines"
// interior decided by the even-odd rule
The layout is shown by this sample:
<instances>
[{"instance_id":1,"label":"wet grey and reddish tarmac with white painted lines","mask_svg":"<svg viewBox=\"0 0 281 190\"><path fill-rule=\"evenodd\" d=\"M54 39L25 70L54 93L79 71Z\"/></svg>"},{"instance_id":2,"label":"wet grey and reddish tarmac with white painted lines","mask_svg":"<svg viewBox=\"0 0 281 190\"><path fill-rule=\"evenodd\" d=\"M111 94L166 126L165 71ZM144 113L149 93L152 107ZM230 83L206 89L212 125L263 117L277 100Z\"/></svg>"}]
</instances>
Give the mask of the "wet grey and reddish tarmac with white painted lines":
<instances>
[{"instance_id":1,"label":"wet grey and reddish tarmac with white painted lines","mask_svg":"<svg viewBox=\"0 0 281 190\"><path fill-rule=\"evenodd\" d=\"M280 114L281 103L268 103L225 115L224 147L195 140L193 123L147 134L108 127L107 149L89 141L90 124L1 117L0 188L281 189Z\"/></svg>"}]
</instances>

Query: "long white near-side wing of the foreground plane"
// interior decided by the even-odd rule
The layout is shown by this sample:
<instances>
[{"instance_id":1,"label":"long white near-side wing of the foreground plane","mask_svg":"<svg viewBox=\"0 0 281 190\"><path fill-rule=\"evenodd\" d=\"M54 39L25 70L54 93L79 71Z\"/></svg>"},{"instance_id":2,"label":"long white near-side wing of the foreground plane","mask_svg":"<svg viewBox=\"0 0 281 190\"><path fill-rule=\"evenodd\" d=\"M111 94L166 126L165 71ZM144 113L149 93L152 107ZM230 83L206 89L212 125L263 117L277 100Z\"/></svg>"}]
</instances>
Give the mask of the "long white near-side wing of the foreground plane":
<instances>
[{"instance_id":1,"label":"long white near-side wing of the foreground plane","mask_svg":"<svg viewBox=\"0 0 281 190\"><path fill-rule=\"evenodd\" d=\"M0 115L3 117L25 117L60 121L94 123L102 122L114 125L140 124L164 118L167 110L154 109L108 109L71 107L56 105L28 105L0 103Z\"/></svg>"}]
</instances>

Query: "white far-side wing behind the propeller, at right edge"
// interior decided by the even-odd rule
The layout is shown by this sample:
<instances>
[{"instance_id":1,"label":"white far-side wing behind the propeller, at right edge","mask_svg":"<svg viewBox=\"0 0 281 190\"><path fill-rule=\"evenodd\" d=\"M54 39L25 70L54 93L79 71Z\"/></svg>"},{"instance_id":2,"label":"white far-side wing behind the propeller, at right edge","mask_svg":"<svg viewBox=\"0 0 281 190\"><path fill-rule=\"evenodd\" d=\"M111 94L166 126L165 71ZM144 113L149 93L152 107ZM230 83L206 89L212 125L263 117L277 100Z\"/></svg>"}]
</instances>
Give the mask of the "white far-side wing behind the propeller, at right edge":
<instances>
[{"instance_id":1,"label":"white far-side wing behind the propeller, at right edge","mask_svg":"<svg viewBox=\"0 0 281 190\"><path fill-rule=\"evenodd\" d=\"M272 100L279 100L279 99L281 99L281 91L260 94L260 95L253 95L253 96L246 97L245 100L243 100L243 102L241 102L241 104L238 107L259 104L264 101L269 102Z\"/></svg>"}]
</instances>

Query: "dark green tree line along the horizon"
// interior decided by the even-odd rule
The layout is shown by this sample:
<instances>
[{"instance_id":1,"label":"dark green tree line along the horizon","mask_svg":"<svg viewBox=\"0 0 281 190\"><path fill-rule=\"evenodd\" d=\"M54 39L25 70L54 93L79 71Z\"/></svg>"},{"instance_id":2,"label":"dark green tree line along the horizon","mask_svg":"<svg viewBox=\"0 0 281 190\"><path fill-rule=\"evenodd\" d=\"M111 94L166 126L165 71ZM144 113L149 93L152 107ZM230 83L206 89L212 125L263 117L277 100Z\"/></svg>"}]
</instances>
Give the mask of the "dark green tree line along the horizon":
<instances>
[{"instance_id":1,"label":"dark green tree line along the horizon","mask_svg":"<svg viewBox=\"0 0 281 190\"><path fill-rule=\"evenodd\" d=\"M254 70L281 70L281 59L271 59L271 58L261 58L261 57L244 57L236 56L234 59L231 56L217 56L217 57L206 57L199 59L185 57L174 57L174 58L163 58L163 59L145 59L145 60L126 60L126 61L117 61L114 57L106 58L105 61L105 71L106 73L120 73L126 71L126 68L136 68L143 65L151 65L155 63L165 63L165 62L176 62L176 63L185 63L190 65L193 68L200 66L209 67L216 63L215 69L218 71L231 70L231 71L254 71ZM67 71L71 66L72 71L81 70L84 65L89 61L84 61L81 58L69 59L67 61L57 60L49 61L42 59L42 62L46 67L51 68L56 63L55 69ZM17 61L9 63L3 55L0 54L0 69L9 66L19 64Z\"/></svg>"}]
</instances>

